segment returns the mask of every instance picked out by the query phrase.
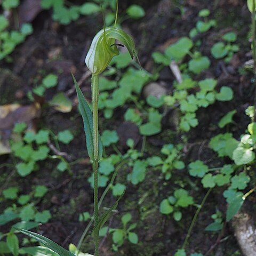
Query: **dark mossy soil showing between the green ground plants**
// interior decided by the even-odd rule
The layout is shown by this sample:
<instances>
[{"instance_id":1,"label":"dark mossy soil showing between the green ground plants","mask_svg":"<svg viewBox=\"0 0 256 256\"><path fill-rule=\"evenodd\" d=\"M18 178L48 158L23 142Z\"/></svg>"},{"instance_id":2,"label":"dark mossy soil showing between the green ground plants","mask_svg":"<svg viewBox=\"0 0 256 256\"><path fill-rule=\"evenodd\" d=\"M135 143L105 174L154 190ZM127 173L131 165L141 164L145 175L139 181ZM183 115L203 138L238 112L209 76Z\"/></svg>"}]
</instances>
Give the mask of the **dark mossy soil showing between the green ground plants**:
<instances>
[{"instance_id":1,"label":"dark mossy soil showing between the green ground plants","mask_svg":"<svg viewBox=\"0 0 256 256\"><path fill-rule=\"evenodd\" d=\"M119 2L120 12L122 13L127 6L138 1ZM232 101L225 102L225 104L216 102L207 109L197 111L200 125L187 134L188 142L186 148L188 150L184 154L188 163L196 159L205 161L210 167L219 163L219 159L207 145L209 139L214 135L225 132L225 129L220 130L217 125L223 113L233 109L237 110L234 118L236 125L230 128L237 139L244 132L249 122L249 118L244 115L244 110L254 101L254 89L250 82L250 75L248 73L239 74L238 71L245 61L251 59L251 55L247 54L250 52L250 43L247 39L250 28L250 15L246 9L245 2L235 0L140 1L140 4L146 10L146 16L140 20L127 20L123 23L123 27L128 28L135 38L142 66L148 68L149 71L153 71L155 67L151 59L151 53L161 49L163 44L168 44L168 42L181 36L187 36L190 29L195 26L199 10L203 8L210 9L211 18L217 20L217 27L202 35L201 51L204 55L209 56L212 66L209 70L199 75L197 79L216 78L218 79L218 87L222 85L230 86L234 90L235 96ZM183 6L185 14L182 14L179 9L180 6ZM92 170L86 153L83 124L77 111L77 99L70 70L73 71L78 80L86 72L85 55L93 36L102 27L101 20L101 14L92 15L92 17L82 17L70 25L61 26L52 21L49 11L42 11L33 20L33 35L29 36L25 43L18 46L11 54L13 62L0 62L1 68L12 70L12 75L19 81L19 86L16 86L16 83L11 85L0 83L1 105L13 102L26 105L29 101L25 95L33 87L35 79L40 80L44 74L49 72L59 74L58 87L47 91L45 99L38 99L42 104L42 114L37 119L36 125L38 129L47 127L54 133L70 129L75 134L75 139L68 146L61 145L61 150L65 151L72 161L82 158L81 161L71 166L72 175L68 174L68 172L60 173L55 170L56 163L54 161L43 162L40 170L26 179L21 179L18 174L13 173L7 167L0 169L0 191L15 185L20 187L22 194L29 193L31 187L35 185L45 185L50 188L49 193L37 204L37 207L40 211L49 209L52 213L52 219L49 223L40 226L37 231L66 248L70 243L78 243L87 225L87 222L78 222L79 213L85 211L93 212L93 191L87 182ZM226 65L219 60L213 59L210 54L210 48L223 33L229 30L237 32L241 51L235 54L233 61L229 65ZM163 69L159 82L162 79L162 81L171 84L174 81L174 77L170 71L167 75L164 72ZM3 73L1 71L0 77L2 76ZM10 86L13 86L11 92ZM90 79L86 79L82 83L82 89L85 97L90 98ZM67 93L70 90L69 98L74 102L74 108L70 113L59 113L44 103L51 99L57 91ZM21 97L17 96L17 91L21 93ZM123 124L124 121L121 115L124 111L122 109L118 111L119 113L115 113L114 119L108 121L103 120L103 115L100 113L100 123L104 126L104 129L117 129ZM170 135L172 127L170 119L172 119L172 116L167 118L163 124L161 137L156 135L147 141L146 147L150 148L153 154L158 154L161 145L164 143L170 141L180 142L179 134L173 135L171 133ZM124 126L123 129L127 129L127 127ZM141 143L139 142L138 147L140 145ZM126 149L120 146L119 150L125 151ZM112 152L108 153L111 154ZM1 156L0 162L12 163L12 158ZM119 171L117 181L125 179L122 178L122 174L125 177L129 168L126 166L126 168ZM194 183L195 189L190 188L191 194L197 199L198 204L201 203L206 190L202 189L199 181L188 178L186 172L183 174L184 179ZM9 175L12 175L12 178L7 180ZM127 187L126 193L119 203L118 214L115 214L110 221L112 227L117 227L119 225L118 216L131 212L133 221L138 222L136 231L139 236L139 244L125 243L118 252L113 252L111 251L111 237L109 236L101 246L102 255L174 255L175 251L182 245L195 214L195 207L191 206L183 213L182 221L176 222L172 217L165 217L159 213L157 207L162 198L169 194L170 190L179 187L178 181L175 179L175 173L173 173L173 180L170 183L168 181L163 182L153 171L149 170L146 180L140 186L129 185ZM213 189L211 196L207 199L199 214L193 233L189 238L188 255L198 251L204 255L207 252L207 255L242 255L229 223L227 223L222 234L204 231L204 228L212 222L210 217L215 212L216 206L221 211L226 211L225 199L219 193L220 191L217 190L219 189L216 189L216 191ZM103 190L100 189L100 195L102 192ZM141 197L145 197L145 199L141 204L138 204ZM109 206L113 204L114 200L115 198L110 196L106 198L104 205ZM11 202L0 204L0 212L8 205L11 205ZM1 227L1 232L3 233L9 230L10 223ZM93 253L91 236L85 239L82 251Z\"/></svg>"}]
</instances>

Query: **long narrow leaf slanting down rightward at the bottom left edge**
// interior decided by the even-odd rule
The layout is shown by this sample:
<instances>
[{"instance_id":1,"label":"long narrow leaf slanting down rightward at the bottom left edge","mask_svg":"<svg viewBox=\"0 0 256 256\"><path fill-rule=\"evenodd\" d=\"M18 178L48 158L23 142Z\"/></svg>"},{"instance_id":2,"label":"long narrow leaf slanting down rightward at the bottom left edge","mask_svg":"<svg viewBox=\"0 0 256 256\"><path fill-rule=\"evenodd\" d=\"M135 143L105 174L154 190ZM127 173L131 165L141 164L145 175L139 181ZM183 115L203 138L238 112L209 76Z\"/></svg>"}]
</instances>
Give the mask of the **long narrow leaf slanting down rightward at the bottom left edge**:
<instances>
[{"instance_id":1,"label":"long narrow leaf slanting down rightward at the bottom left edge","mask_svg":"<svg viewBox=\"0 0 256 256\"><path fill-rule=\"evenodd\" d=\"M75 256L75 254L67 251L66 249L64 249L57 243L51 241L51 239L49 239L47 237L41 236L39 234L36 234L34 232L31 232L31 231L28 231L25 229L20 229L20 228L15 228L15 229L17 229L18 231L20 231L21 233L23 233L27 236L30 236L30 237L36 239L38 242L40 242L43 245L45 245L46 247L50 248L54 252L58 253L60 256Z\"/></svg>"}]
</instances>

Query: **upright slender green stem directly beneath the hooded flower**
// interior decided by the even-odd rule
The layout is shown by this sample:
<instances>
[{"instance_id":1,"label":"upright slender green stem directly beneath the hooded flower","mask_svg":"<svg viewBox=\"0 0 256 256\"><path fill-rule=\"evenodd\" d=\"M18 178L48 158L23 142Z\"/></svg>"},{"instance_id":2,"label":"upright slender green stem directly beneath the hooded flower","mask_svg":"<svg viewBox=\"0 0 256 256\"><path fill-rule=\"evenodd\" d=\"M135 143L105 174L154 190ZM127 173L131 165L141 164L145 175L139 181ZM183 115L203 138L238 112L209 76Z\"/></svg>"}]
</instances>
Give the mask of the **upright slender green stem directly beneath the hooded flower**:
<instances>
[{"instance_id":1,"label":"upright slender green stem directly beneath the hooded flower","mask_svg":"<svg viewBox=\"0 0 256 256\"><path fill-rule=\"evenodd\" d=\"M98 101L99 101L99 76L92 75L92 114L93 114L93 176L94 176L94 227L98 225L98 155L99 155L99 138L98 138ZM94 232L95 252L94 256L99 256L99 230Z\"/></svg>"}]
</instances>

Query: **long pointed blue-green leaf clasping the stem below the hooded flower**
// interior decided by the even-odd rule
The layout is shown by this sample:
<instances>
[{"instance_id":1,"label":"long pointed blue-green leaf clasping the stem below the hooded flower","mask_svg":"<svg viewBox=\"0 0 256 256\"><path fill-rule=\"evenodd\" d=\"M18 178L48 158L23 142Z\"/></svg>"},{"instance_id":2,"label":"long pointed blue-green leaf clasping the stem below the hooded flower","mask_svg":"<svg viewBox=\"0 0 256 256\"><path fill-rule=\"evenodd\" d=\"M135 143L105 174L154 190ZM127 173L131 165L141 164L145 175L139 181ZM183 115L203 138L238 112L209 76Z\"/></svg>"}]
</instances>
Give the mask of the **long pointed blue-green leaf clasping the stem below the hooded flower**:
<instances>
[{"instance_id":1,"label":"long pointed blue-green leaf clasping the stem below the hooded flower","mask_svg":"<svg viewBox=\"0 0 256 256\"><path fill-rule=\"evenodd\" d=\"M78 86L77 82L76 82L76 78L74 77L74 75L72 74L74 83L75 83L75 87L76 87L76 93L77 93L77 98L78 98L78 102L79 102L79 108L81 111L81 115L83 118L83 122L84 122L84 132L85 132L85 139L86 139L86 147L87 147L87 151L88 151L88 155L89 157L94 160L94 152L93 152L93 117L92 117L92 110L90 109L88 103L86 102L84 95L80 89L80 87ZM102 153L103 153L103 145L102 145L102 141L100 138L100 135L98 137L99 141L98 141L98 159L95 159L96 161L99 161L100 158L102 157Z\"/></svg>"}]
</instances>

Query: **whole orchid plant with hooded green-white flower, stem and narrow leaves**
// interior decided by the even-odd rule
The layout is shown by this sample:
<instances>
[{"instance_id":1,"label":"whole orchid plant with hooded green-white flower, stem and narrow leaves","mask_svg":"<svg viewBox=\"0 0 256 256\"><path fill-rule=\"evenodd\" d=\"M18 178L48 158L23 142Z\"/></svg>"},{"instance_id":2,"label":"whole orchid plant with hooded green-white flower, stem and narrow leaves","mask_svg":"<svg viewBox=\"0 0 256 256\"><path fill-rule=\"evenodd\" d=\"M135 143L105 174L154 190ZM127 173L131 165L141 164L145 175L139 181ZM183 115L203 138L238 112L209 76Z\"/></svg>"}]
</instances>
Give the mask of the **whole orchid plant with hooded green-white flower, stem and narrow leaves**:
<instances>
[{"instance_id":1,"label":"whole orchid plant with hooded green-white flower, stem and narrow leaves","mask_svg":"<svg viewBox=\"0 0 256 256\"><path fill-rule=\"evenodd\" d=\"M98 163L102 157L103 146L98 131L98 100L99 100L99 75L107 68L111 59L119 54L117 46L126 46L131 58L137 58L135 51L135 45L132 37L126 34L122 29L117 27L117 13L118 13L118 1L116 0L116 18L113 27L105 27L101 29L93 38L90 49L86 55L85 63L92 73L91 87L92 87L92 111L86 102L84 95L79 88L75 77L73 76L77 98L79 102L79 109L84 123L84 131L86 138L86 147L88 155L92 162L93 174L94 174L94 243L95 251L94 256L99 256L99 230L103 224L107 221L111 211L116 209L117 204L121 197L119 197L116 203L106 211L101 218L98 215ZM104 20L104 18L103 18ZM116 43L116 40L123 45ZM71 256L74 254L63 249L58 244L52 242L50 239L33 233L25 229L18 229L21 233L37 239L37 241L46 245L54 252L57 252L60 256Z\"/></svg>"}]
</instances>

